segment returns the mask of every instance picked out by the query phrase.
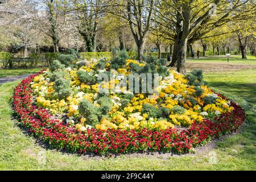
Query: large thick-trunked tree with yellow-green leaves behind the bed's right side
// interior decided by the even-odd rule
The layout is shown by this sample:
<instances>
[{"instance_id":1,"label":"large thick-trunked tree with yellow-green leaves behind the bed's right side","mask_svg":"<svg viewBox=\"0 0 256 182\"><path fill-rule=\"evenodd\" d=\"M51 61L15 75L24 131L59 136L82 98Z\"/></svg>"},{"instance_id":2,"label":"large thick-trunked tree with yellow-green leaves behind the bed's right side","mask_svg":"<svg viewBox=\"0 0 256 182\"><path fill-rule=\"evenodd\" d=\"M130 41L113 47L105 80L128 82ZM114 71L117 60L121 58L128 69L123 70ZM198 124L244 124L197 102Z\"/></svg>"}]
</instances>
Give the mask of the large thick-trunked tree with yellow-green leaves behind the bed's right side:
<instances>
[{"instance_id":1,"label":"large thick-trunked tree with yellow-green leaves behind the bed's right side","mask_svg":"<svg viewBox=\"0 0 256 182\"><path fill-rule=\"evenodd\" d=\"M188 42L191 44L203 38L210 30L214 30L230 20L247 19L247 14L241 9L249 2L253 3L249 0L159 1L158 13L162 19L162 25L165 26L163 32L174 34L174 53L170 65L174 66L177 63L177 71L186 73L185 58ZM248 11L254 10L255 6L252 6ZM170 26L170 24L172 25ZM166 31L166 28L170 31Z\"/></svg>"}]
</instances>

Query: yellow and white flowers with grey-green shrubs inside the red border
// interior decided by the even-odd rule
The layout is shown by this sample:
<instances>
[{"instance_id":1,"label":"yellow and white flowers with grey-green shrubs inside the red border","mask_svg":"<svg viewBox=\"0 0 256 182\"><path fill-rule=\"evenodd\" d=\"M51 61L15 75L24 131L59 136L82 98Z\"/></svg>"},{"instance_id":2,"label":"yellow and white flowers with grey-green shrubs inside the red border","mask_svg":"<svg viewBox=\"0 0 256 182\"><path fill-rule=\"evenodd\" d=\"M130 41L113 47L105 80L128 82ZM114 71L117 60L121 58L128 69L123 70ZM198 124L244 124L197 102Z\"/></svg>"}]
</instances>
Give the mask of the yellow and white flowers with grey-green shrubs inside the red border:
<instances>
[{"instance_id":1,"label":"yellow and white flowers with grey-green shrubs inside the red border","mask_svg":"<svg viewBox=\"0 0 256 182\"><path fill-rule=\"evenodd\" d=\"M196 78L193 82L197 81L197 85L189 84L194 75L187 78L175 71L167 70L159 76L155 88L158 94L130 92L121 84L123 78L134 72L148 72L147 67L151 65L129 59L122 67L118 67L118 62L110 63L104 59L92 60L76 63L74 68L56 63L54 69L51 67L51 71L47 69L32 79L35 104L80 131L189 127L195 121L202 122L204 118L233 110L230 101L214 94ZM115 65L112 73L117 76L109 81L97 81L102 73L110 74L112 64ZM154 67L158 71L162 66ZM100 86L110 89L113 84L117 86L108 94L99 92Z\"/></svg>"}]
</instances>

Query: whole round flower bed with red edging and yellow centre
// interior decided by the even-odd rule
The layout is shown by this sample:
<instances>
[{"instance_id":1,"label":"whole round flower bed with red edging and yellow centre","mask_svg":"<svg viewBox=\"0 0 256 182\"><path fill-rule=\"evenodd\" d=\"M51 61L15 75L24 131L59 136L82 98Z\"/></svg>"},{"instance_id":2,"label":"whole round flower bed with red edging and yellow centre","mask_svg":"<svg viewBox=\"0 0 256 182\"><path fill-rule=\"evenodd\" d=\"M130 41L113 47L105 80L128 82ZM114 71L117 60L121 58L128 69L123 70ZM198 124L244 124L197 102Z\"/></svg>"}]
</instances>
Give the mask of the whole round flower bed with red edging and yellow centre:
<instances>
[{"instance_id":1,"label":"whole round flower bed with red edging and yellow centre","mask_svg":"<svg viewBox=\"0 0 256 182\"><path fill-rule=\"evenodd\" d=\"M240 106L213 93L204 84L201 72L183 76L165 69L161 61L101 59L66 67L55 61L49 70L16 86L13 109L36 137L52 147L81 153L184 154L238 129L245 119ZM119 75L104 82L103 88L109 89L112 82L118 84L123 76L143 70L159 73L158 94L135 94L122 86L113 92L99 92L100 73L111 68Z\"/></svg>"}]
</instances>

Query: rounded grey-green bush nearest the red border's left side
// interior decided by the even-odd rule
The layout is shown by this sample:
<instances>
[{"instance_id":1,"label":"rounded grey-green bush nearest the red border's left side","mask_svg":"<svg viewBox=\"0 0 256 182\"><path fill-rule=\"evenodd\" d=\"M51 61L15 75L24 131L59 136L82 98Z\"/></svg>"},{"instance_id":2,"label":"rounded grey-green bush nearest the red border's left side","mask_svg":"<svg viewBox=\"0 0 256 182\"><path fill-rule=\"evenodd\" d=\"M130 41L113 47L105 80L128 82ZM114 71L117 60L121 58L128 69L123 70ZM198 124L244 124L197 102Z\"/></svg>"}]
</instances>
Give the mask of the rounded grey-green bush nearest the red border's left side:
<instances>
[{"instance_id":1,"label":"rounded grey-green bush nearest the red border's left side","mask_svg":"<svg viewBox=\"0 0 256 182\"><path fill-rule=\"evenodd\" d=\"M53 85L54 96L56 98L59 98L59 100L65 99L68 96L70 96L72 93L70 84L71 84L71 81L64 78L59 78L55 80Z\"/></svg>"}]
</instances>

